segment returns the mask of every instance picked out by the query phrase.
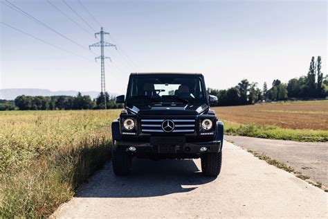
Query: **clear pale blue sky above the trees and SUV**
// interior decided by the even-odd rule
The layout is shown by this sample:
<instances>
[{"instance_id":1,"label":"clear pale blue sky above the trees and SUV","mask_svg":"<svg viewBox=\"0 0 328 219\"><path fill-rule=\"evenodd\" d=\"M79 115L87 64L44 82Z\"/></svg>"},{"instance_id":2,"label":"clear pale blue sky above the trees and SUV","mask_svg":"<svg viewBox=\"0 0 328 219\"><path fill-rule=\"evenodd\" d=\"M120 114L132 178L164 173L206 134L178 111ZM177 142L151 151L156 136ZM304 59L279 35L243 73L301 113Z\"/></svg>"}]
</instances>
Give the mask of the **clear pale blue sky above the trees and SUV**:
<instances>
[{"instance_id":1,"label":"clear pale blue sky above the trees and SUV","mask_svg":"<svg viewBox=\"0 0 328 219\"><path fill-rule=\"evenodd\" d=\"M100 90L100 62L88 51L98 39L46 0L9 1L85 48L2 3L1 22L86 59L0 24L1 89ZM106 65L109 92L125 93L129 73L143 71L201 72L217 89L247 78L262 88L264 81L306 74L318 55L327 73L327 1L80 1L111 33L106 41L118 46L105 52L113 60ZM63 1L51 2L93 33ZM66 2L100 29L77 0Z\"/></svg>"}]
</instances>

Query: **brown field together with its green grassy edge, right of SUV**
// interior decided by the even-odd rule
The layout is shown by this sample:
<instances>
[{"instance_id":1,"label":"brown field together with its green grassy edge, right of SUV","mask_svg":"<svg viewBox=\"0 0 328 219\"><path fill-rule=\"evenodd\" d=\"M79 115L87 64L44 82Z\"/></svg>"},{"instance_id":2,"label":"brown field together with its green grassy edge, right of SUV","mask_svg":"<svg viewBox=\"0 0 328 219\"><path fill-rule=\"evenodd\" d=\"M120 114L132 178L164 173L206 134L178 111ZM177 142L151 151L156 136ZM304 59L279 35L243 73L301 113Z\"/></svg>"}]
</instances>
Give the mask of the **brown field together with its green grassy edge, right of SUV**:
<instances>
[{"instance_id":1,"label":"brown field together with its green grassy edge, right of SUV","mask_svg":"<svg viewBox=\"0 0 328 219\"><path fill-rule=\"evenodd\" d=\"M328 101L213 107L226 133L294 141L328 141Z\"/></svg>"}]
</instances>

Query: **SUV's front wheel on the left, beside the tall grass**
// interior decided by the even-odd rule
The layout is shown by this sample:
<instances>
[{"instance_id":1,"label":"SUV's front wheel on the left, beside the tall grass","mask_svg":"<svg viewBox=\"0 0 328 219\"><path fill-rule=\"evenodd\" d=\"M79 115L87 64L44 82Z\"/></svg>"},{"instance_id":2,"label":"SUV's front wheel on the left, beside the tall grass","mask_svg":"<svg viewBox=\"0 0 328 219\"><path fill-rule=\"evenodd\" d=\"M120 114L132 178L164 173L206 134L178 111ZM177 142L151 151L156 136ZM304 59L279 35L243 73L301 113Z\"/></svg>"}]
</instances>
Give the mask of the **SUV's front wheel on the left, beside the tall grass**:
<instances>
[{"instance_id":1,"label":"SUV's front wheel on the left, beside the tall grass","mask_svg":"<svg viewBox=\"0 0 328 219\"><path fill-rule=\"evenodd\" d=\"M115 175L128 175L131 172L132 157L122 150L113 150L112 164Z\"/></svg>"}]
</instances>

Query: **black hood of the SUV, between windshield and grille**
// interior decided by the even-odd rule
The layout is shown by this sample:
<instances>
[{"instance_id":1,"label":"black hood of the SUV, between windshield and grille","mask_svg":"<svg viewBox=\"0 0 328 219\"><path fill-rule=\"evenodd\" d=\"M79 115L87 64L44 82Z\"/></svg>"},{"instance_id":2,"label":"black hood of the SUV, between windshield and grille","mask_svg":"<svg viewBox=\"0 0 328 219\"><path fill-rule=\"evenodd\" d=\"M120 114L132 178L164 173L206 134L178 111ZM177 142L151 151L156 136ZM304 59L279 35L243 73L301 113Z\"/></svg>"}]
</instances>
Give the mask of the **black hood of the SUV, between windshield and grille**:
<instances>
[{"instance_id":1,"label":"black hood of the SUV, between windshield and grille","mask_svg":"<svg viewBox=\"0 0 328 219\"><path fill-rule=\"evenodd\" d=\"M208 109L208 105L152 103L128 105L127 108L139 115L198 115Z\"/></svg>"}]
</instances>

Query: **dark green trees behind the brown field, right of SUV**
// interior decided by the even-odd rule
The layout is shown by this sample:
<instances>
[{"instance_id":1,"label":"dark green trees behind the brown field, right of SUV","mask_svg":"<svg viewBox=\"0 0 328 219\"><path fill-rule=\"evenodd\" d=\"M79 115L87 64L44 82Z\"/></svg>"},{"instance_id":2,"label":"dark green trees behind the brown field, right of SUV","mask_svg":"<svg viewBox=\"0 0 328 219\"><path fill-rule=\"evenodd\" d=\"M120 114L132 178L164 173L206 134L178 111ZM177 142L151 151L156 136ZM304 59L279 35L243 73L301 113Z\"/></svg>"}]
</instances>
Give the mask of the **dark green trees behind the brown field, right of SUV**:
<instances>
[{"instance_id":1,"label":"dark green trees behind the brown field, right of SUV","mask_svg":"<svg viewBox=\"0 0 328 219\"><path fill-rule=\"evenodd\" d=\"M208 93L217 96L217 105L247 105L262 101L279 100L309 100L315 98L327 98L328 96L328 75L325 77L321 71L321 57L317 60L311 58L307 76L293 78L288 83L283 83L279 79L273 80L272 86L264 82L263 89L259 89L257 82L242 80L235 87L229 89L208 89Z\"/></svg>"}]
</instances>

